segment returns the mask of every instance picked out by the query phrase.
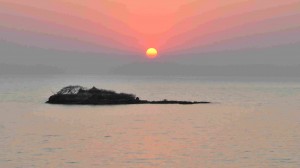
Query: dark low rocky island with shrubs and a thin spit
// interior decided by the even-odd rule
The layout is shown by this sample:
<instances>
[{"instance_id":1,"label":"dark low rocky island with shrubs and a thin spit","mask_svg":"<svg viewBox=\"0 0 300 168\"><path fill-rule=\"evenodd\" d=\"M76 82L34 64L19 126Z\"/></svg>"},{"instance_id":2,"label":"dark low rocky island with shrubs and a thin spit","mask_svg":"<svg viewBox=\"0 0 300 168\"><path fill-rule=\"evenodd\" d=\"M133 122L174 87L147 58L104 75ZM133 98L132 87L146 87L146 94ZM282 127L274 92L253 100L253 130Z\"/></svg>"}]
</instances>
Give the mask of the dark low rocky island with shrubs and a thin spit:
<instances>
[{"instance_id":1,"label":"dark low rocky island with shrubs and a thin spit","mask_svg":"<svg viewBox=\"0 0 300 168\"><path fill-rule=\"evenodd\" d=\"M115 91L91 89L82 86L67 86L50 96L46 103L68 105L122 105L122 104L208 104L210 102L197 101L148 101L140 100L133 94L116 93Z\"/></svg>"}]
</instances>

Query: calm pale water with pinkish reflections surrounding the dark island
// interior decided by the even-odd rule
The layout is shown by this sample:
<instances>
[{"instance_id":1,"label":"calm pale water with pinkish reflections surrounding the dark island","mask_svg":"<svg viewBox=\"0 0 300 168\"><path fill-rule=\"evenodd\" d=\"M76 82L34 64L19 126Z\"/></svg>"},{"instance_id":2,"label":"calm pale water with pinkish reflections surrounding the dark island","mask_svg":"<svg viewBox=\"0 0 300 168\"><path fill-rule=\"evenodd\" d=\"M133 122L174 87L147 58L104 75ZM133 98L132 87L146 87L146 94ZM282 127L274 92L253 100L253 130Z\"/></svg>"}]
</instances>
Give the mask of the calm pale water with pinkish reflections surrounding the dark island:
<instances>
[{"instance_id":1,"label":"calm pale water with pinkish reflections surrounding the dark island","mask_svg":"<svg viewBox=\"0 0 300 168\"><path fill-rule=\"evenodd\" d=\"M49 105L64 86L199 105ZM300 84L184 77L0 77L0 167L299 168Z\"/></svg>"}]
</instances>

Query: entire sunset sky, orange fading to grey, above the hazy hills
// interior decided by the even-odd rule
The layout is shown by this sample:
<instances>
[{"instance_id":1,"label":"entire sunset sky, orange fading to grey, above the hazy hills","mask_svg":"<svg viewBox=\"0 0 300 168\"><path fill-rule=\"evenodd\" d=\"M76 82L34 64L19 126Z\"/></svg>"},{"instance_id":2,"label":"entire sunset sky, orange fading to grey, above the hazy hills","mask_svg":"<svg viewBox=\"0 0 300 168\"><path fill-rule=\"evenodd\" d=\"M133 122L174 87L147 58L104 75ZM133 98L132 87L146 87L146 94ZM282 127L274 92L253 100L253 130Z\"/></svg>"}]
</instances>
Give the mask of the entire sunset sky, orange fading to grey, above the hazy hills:
<instances>
[{"instance_id":1,"label":"entire sunset sky, orange fading to grey, above the hazy hills","mask_svg":"<svg viewBox=\"0 0 300 168\"><path fill-rule=\"evenodd\" d=\"M0 61L121 65L154 47L156 61L295 64L299 18L300 0L0 0Z\"/></svg>"}]
</instances>

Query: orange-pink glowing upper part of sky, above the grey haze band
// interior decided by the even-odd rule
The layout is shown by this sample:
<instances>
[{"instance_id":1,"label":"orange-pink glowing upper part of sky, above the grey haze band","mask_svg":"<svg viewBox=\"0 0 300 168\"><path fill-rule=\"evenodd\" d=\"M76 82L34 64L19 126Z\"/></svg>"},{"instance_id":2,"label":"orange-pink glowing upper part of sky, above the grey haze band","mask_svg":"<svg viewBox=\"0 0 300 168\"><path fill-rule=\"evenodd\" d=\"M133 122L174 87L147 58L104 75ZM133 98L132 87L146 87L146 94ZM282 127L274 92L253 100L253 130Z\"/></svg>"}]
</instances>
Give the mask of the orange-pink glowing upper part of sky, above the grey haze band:
<instances>
[{"instance_id":1,"label":"orange-pink glowing upper part of sky, above the grey haze band","mask_svg":"<svg viewBox=\"0 0 300 168\"><path fill-rule=\"evenodd\" d=\"M299 30L297 18L300 0L0 0L1 39L70 50L74 41L95 46L77 50L205 50L244 36Z\"/></svg>"}]
</instances>

